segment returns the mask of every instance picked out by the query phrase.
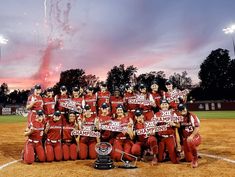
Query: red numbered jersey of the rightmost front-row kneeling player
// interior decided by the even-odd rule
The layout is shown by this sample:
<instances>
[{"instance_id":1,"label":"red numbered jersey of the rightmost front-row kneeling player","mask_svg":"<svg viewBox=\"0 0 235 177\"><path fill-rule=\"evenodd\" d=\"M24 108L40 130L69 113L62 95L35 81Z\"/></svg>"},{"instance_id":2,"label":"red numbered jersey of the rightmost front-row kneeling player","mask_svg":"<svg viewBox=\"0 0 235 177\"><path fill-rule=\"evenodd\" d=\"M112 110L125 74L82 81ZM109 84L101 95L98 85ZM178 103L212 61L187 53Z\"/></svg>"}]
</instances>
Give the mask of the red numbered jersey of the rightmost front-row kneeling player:
<instances>
[{"instance_id":1,"label":"red numbered jersey of the rightmost front-row kneeling player","mask_svg":"<svg viewBox=\"0 0 235 177\"><path fill-rule=\"evenodd\" d=\"M180 130L182 130L183 137L187 138L192 134L195 127L200 126L200 120L195 114L190 112L188 112L188 114L183 117L183 122L180 123Z\"/></svg>"}]
</instances>

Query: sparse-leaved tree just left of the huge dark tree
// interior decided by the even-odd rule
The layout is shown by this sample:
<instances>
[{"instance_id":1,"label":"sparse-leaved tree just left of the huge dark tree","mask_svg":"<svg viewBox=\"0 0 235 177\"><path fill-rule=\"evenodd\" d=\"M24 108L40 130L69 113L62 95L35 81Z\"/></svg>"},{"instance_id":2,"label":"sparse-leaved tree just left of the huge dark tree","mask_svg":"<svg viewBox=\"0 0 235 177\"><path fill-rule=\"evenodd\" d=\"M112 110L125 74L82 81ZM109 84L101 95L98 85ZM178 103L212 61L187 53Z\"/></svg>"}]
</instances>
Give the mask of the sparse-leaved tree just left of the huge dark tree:
<instances>
[{"instance_id":1,"label":"sparse-leaved tree just left of the huge dark tree","mask_svg":"<svg viewBox=\"0 0 235 177\"><path fill-rule=\"evenodd\" d=\"M187 76L188 73L186 71L182 72L182 74L174 73L174 75L170 76L169 79L173 82L173 85L179 89L191 89L192 88L192 79Z\"/></svg>"}]
</instances>

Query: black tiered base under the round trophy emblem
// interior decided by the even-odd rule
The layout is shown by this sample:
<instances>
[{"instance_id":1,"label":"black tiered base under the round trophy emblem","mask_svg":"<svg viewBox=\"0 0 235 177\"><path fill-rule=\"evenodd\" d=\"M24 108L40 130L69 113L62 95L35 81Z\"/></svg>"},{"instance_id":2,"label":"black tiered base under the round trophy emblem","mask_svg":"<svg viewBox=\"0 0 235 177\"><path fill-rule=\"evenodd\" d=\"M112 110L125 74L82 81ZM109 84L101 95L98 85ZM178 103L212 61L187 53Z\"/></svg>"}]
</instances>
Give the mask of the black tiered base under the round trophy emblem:
<instances>
[{"instance_id":1,"label":"black tiered base under the round trophy emblem","mask_svg":"<svg viewBox=\"0 0 235 177\"><path fill-rule=\"evenodd\" d=\"M94 168L99 170L108 170L112 169L113 167L113 161L109 155L98 155L98 159L96 159L94 163Z\"/></svg>"}]
</instances>

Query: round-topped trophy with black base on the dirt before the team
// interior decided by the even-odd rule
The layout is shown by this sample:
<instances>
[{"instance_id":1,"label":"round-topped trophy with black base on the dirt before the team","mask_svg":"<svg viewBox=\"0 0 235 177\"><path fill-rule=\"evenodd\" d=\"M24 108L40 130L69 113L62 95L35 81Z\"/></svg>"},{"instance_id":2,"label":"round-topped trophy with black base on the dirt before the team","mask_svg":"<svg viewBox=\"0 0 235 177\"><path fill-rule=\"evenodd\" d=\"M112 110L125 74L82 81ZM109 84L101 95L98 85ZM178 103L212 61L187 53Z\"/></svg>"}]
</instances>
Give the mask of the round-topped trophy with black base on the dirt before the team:
<instances>
[{"instance_id":1,"label":"round-topped trophy with black base on the dirt before the team","mask_svg":"<svg viewBox=\"0 0 235 177\"><path fill-rule=\"evenodd\" d=\"M112 151L112 145L107 142L100 142L96 144L95 150L98 158L94 163L94 168L100 170L112 169L114 167L113 160L111 160L109 155Z\"/></svg>"}]
</instances>

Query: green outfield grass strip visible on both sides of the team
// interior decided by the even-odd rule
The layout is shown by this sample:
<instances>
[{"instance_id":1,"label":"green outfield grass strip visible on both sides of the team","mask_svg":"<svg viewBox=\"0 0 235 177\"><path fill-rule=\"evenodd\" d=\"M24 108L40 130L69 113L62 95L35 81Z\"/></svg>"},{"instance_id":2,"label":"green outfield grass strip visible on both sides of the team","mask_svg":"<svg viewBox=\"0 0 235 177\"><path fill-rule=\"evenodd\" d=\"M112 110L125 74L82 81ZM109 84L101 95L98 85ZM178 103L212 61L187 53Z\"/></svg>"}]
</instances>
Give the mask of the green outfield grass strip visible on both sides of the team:
<instances>
[{"instance_id":1,"label":"green outfield grass strip visible on both sides of the team","mask_svg":"<svg viewBox=\"0 0 235 177\"><path fill-rule=\"evenodd\" d=\"M199 119L235 119L235 111L195 111ZM9 115L0 116L0 123L26 122L26 117Z\"/></svg>"}]
</instances>

